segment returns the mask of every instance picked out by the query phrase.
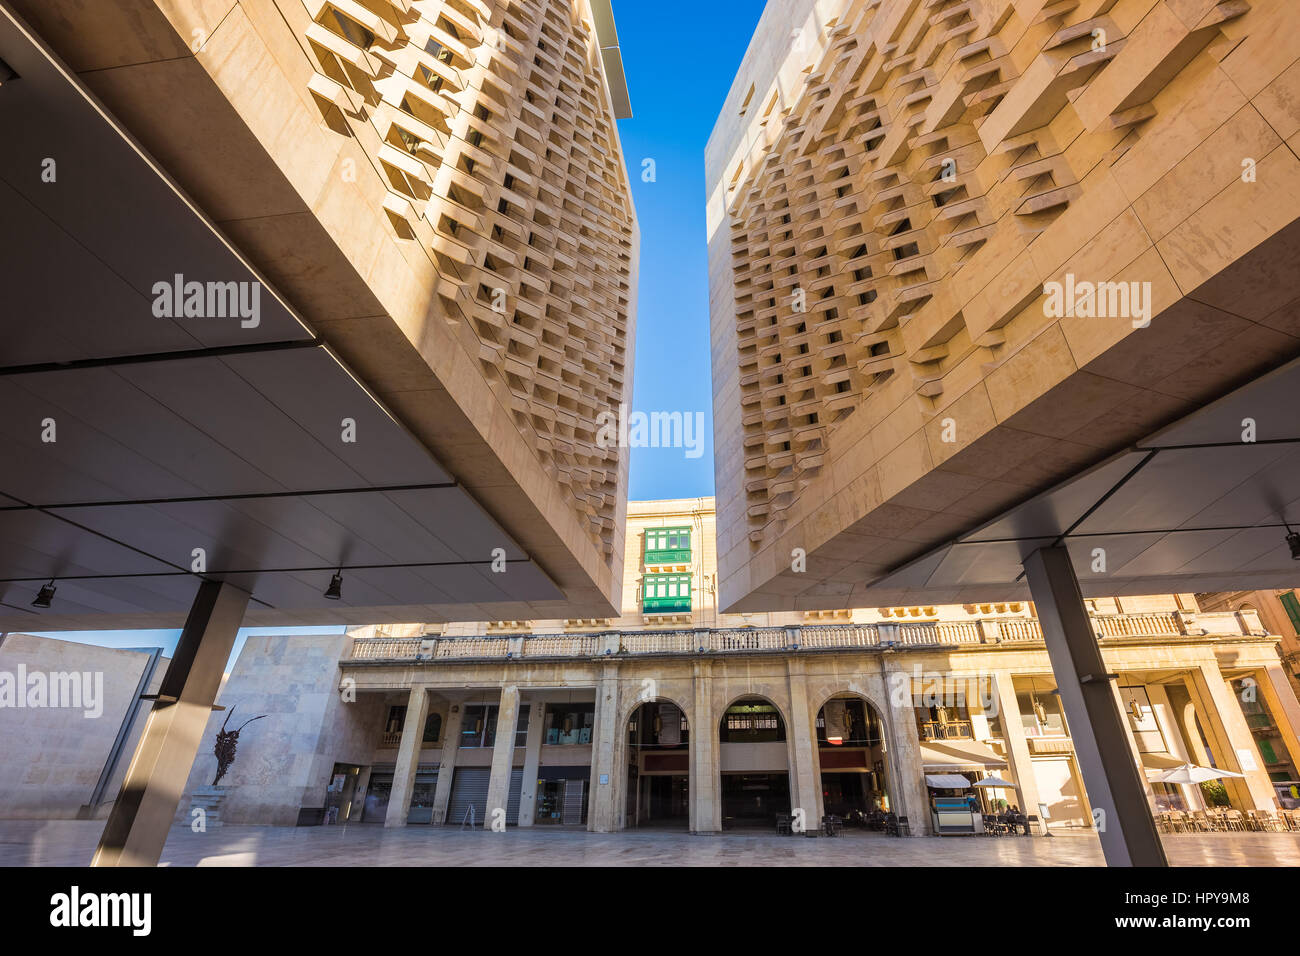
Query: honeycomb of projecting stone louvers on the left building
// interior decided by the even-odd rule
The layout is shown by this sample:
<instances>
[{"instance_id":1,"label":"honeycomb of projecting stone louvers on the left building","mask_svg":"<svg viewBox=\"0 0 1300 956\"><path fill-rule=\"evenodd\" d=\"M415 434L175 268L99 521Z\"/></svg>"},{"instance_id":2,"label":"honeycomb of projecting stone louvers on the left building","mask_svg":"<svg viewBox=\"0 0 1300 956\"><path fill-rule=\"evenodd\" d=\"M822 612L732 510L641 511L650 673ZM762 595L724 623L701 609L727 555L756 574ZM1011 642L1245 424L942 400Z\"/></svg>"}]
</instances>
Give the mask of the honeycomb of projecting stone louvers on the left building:
<instances>
[{"instance_id":1,"label":"honeycomb of projecting stone louvers on the left building","mask_svg":"<svg viewBox=\"0 0 1300 956\"><path fill-rule=\"evenodd\" d=\"M630 381L636 221L586 4L307 7L308 88L361 138L442 317L611 557L619 453L595 421Z\"/></svg>"}]
</instances>

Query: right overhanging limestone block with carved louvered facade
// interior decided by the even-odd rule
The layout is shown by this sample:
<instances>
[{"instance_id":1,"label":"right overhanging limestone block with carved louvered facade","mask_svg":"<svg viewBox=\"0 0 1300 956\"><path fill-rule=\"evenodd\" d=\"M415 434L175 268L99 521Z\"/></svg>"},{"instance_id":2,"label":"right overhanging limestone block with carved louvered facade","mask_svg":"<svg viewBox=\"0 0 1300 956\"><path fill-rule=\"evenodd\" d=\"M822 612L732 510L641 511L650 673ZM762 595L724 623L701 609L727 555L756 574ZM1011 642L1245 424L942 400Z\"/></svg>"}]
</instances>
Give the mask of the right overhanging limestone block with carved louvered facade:
<instances>
[{"instance_id":1,"label":"right overhanging limestone block with carved louvered facade","mask_svg":"<svg viewBox=\"0 0 1300 956\"><path fill-rule=\"evenodd\" d=\"M867 601L1296 352L1295 289L1261 261L1300 217L1288 17L768 4L706 153L720 606ZM1150 284L1150 326L1052 317L1067 274ZM819 570L792 574L794 548Z\"/></svg>"}]
</instances>

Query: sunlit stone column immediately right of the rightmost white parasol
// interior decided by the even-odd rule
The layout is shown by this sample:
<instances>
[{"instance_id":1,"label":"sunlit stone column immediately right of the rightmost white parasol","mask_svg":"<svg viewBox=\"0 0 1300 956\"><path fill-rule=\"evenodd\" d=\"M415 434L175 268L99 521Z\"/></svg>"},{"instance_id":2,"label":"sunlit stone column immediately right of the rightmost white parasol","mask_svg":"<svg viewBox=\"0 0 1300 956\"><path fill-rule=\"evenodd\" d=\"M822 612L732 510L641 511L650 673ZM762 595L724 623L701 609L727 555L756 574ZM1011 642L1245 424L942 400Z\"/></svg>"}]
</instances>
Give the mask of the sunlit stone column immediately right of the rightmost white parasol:
<instances>
[{"instance_id":1,"label":"sunlit stone column immediately right of the rightmost white parasol","mask_svg":"<svg viewBox=\"0 0 1300 956\"><path fill-rule=\"evenodd\" d=\"M1264 769L1264 760L1245 723L1242 705L1223 679L1218 663L1206 661L1193 669L1187 679L1187 691L1201 718L1205 736L1209 737L1216 766L1245 774L1245 779L1223 779L1223 786L1236 805L1243 810L1277 809L1277 791Z\"/></svg>"}]
</instances>

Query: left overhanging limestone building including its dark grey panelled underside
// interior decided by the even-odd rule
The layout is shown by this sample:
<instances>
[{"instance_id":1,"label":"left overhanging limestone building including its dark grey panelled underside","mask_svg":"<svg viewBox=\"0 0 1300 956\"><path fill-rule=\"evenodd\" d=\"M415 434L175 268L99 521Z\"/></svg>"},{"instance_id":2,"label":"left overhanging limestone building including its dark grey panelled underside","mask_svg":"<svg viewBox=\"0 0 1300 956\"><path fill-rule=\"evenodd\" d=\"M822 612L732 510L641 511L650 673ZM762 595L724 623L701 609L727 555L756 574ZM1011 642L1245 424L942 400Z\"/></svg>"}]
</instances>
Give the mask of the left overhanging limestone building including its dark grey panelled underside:
<instances>
[{"instance_id":1,"label":"left overhanging limestone building including its dark grey panelled underside","mask_svg":"<svg viewBox=\"0 0 1300 956\"><path fill-rule=\"evenodd\" d=\"M44 290L8 311L48 316L14 333L5 403L49 405L83 457L4 490L101 502L87 533L150 555L5 570L82 572L43 628L178 626L192 581L116 576L188 574L172 536L254 594L248 623L616 607L628 459L595 421L632 395L638 229L608 0L16 0L0 31L4 177L60 164L5 207L14 285ZM261 313L151 313L173 273L247 280Z\"/></svg>"}]
</instances>

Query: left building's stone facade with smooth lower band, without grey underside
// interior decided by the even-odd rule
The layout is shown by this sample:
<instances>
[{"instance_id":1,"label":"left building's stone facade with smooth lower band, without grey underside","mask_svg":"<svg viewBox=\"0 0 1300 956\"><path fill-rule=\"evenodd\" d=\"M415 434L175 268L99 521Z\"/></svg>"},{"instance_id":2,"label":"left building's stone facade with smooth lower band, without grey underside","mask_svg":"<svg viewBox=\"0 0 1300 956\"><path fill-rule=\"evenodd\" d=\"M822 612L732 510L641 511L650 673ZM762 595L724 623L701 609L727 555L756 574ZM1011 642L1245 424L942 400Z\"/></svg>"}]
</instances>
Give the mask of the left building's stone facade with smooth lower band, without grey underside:
<instances>
[{"instance_id":1,"label":"left building's stone facade with smooth lower band, without grey underside","mask_svg":"<svg viewBox=\"0 0 1300 956\"><path fill-rule=\"evenodd\" d=\"M608 3L13 7L545 568L554 610L608 614L628 459L597 418L630 402L638 260Z\"/></svg>"}]
</instances>

